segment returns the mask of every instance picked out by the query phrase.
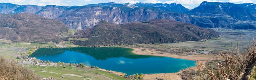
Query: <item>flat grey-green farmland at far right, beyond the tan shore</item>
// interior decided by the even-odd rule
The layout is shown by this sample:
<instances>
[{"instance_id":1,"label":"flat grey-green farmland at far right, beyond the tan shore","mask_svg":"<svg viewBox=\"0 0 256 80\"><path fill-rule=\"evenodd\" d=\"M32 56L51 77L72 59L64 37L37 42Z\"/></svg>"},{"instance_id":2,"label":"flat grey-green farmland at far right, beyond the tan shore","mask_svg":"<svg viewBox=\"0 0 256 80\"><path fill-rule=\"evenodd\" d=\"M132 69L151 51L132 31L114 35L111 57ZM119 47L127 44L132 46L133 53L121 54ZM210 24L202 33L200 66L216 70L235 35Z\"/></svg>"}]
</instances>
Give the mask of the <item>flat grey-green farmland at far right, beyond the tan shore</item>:
<instances>
[{"instance_id":1,"label":"flat grey-green farmland at far right, beyond the tan shore","mask_svg":"<svg viewBox=\"0 0 256 80\"><path fill-rule=\"evenodd\" d=\"M252 42L252 38L256 38L256 30L225 30L219 31L221 36L219 40L207 40L204 42L183 42L183 43L169 43L162 44L167 46L176 46L182 48L190 48L190 49L202 49L209 51L222 51L227 50L228 46L231 48L232 44L240 44L240 34L242 34L242 48L243 51L249 45L249 42ZM240 46L240 45L239 45Z\"/></svg>"}]
</instances>

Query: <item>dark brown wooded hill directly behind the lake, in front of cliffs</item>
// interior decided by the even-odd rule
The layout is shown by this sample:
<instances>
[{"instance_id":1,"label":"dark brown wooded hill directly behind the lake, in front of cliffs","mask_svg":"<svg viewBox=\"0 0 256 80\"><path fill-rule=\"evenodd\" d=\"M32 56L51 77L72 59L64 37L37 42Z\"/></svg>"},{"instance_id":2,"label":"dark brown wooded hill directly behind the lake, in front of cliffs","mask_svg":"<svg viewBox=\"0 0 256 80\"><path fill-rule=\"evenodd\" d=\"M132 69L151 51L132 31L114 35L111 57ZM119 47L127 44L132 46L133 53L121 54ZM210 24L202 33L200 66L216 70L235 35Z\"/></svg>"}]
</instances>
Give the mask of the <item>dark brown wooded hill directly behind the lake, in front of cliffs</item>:
<instances>
[{"instance_id":1,"label":"dark brown wooded hill directly behind the lake, in front of cliffs","mask_svg":"<svg viewBox=\"0 0 256 80\"><path fill-rule=\"evenodd\" d=\"M73 41L75 45L81 46L178 43L200 41L219 36L212 29L169 19L152 19L146 22L125 24L100 21L96 26L79 30L75 35L73 38L88 38L85 41Z\"/></svg>"}]
</instances>

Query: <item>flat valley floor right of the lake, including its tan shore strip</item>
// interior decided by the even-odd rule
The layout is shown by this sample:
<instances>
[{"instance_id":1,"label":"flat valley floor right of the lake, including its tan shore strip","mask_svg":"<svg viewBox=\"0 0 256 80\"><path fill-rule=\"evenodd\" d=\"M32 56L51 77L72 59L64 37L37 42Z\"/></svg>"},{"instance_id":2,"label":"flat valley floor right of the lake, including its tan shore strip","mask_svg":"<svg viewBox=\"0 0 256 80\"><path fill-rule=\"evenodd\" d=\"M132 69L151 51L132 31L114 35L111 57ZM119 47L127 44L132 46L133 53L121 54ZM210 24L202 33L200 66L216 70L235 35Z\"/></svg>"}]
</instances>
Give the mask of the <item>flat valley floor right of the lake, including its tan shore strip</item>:
<instances>
[{"instance_id":1,"label":"flat valley floor right of the lake, including its tan shore strip","mask_svg":"<svg viewBox=\"0 0 256 80\"><path fill-rule=\"evenodd\" d=\"M224 58L220 56L220 53L224 53L231 48L232 44L240 42L240 35L242 34L242 51L246 51L248 43L256 38L256 30L227 30L218 31L221 36L217 39L206 40L203 42L183 42L183 43L169 43L160 45L132 45L122 46L126 48L133 48L133 53L139 55L152 55L152 56L165 56L171 58L187 59L197 61L197 65L207 65L206 62L210 61L223 61ZM240 44L240 43L239 43ZM198 51L211 51L208 54L200 54ZM198 64L199 63L199 64ZM189 67L188 69L181 70L177 73L165 73L165 74L145 74L144 79L170 79L181 80L181 74L187 70L197 70L198 67Z\"/></svg>"}]
</instances>

